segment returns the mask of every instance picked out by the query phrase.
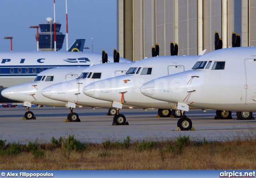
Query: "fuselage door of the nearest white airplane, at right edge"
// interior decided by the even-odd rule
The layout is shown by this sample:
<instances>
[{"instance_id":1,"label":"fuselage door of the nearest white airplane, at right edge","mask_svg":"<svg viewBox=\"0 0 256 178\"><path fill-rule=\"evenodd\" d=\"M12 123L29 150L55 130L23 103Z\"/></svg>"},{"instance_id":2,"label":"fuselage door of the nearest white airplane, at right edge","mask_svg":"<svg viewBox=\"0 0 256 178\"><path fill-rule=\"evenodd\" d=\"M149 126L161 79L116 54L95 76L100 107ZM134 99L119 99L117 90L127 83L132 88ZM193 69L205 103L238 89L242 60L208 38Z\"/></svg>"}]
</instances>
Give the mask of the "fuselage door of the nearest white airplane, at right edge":
<instances>
[{"instance_id":1,"label":"fuselage door of the nearest white airplane, at right edge","mask_svg":"<svg viewBox=\"0 0 256 178\"><path fill-rule=\"evenodd\" d=\"M256 105L256 59L244 59L246 84L246 105Z\"/></svg>"}]
</instances>

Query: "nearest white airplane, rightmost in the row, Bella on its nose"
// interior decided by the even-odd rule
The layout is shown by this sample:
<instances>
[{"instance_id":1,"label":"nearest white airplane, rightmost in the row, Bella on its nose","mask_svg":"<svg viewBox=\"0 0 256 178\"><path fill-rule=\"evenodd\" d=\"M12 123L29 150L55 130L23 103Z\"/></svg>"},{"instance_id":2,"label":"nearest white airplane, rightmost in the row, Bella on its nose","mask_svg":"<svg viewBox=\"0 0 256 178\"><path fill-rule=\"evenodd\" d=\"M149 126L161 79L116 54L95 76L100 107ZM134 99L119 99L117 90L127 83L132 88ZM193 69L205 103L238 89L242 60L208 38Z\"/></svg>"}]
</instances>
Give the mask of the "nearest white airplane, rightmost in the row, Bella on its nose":
<instances>
[{"instance_id":1,"label":"nearest white airplane, rightmost in the row, Bella on its nose","mask_svg":"<svg viewBox=\"0 0 256 178\"><path fill-rule=\"evenodd\" d=\"M256 47L218 49L200 57L192 70L148 81L140 91L152 99L178 103L183 111L237 111L238 118L251 119L256 111L255 56ZM190 130L192 121L182 117L177 125Z\"/></svg>"}]
</instances>

